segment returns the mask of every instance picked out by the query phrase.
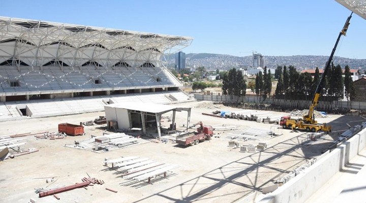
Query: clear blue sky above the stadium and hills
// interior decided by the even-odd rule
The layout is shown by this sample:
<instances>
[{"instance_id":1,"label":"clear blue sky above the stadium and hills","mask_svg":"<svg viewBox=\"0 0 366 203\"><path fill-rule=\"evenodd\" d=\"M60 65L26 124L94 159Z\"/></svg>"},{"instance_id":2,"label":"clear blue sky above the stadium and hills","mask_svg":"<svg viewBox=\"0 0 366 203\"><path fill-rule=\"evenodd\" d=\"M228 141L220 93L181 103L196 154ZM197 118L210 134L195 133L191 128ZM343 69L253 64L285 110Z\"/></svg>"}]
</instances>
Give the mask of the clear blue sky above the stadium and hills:
<instances>
[{"instance_id":1,"label":"clear blue sky above the stadium and hills","mask_svg":"<svg viewBox=\"0 0 366 203\"><path fill-rule=\"evenodd\" d=\"M325 55L351 11L334 0L9 1L0 16L193 37L186 53ZM366 20L353 14L336 56L366 58Z\"/></svg>"}]
</instances>

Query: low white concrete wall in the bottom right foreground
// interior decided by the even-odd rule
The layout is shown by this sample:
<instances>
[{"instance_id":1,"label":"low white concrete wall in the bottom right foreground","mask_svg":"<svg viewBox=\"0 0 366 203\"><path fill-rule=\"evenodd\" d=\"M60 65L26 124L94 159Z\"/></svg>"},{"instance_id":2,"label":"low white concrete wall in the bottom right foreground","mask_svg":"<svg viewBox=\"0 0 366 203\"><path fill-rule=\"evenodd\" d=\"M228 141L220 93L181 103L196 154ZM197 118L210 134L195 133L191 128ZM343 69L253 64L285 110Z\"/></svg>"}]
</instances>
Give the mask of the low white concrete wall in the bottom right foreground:
<instances>
[{"instance_id":1,"label":"low white concrete wall in the bottom right foreground","mask_svg":"<svg viewBox=\"0 0 366 203\"><path fill-rule=\"evenodd\" d=\"M332 176L340 172L358 152L366 147L366 128L355 134L348 141L327 152L312 166L304 170L277 190L268 193L256 202L304 202L321 188Z\"/></svg>"}]
</instances>

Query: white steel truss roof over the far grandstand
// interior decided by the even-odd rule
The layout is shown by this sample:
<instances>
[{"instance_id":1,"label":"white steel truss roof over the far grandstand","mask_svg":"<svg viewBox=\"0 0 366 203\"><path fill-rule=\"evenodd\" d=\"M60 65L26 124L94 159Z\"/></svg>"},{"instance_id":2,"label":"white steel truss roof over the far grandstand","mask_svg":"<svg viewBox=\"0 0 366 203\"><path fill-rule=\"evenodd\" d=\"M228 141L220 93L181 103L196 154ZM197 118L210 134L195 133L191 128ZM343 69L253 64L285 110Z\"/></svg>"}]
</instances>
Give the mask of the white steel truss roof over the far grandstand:
<instances>
[{"instance_id":1,"label":"white steel truss roof over the far grandstand","mask_svg":"<svg viewBox=\"0 0 366 203\"><path fill-rule=\"evenodd\" d=\"M0 63L42 67L85 63L113 67L162 66L162 55L192 43L190 37L0 17Z\"/></svg>"}]
</instances>

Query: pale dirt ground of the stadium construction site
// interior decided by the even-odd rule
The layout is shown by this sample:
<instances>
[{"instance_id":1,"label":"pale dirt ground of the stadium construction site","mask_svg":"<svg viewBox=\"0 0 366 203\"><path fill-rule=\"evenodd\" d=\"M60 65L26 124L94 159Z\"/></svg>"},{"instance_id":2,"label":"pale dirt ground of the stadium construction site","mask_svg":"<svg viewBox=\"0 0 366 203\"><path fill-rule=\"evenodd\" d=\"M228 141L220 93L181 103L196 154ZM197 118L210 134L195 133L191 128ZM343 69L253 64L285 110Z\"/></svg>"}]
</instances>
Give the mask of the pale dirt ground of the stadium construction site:
<instances>
[{"instance_id":1,"label":"pale dirt ground of the stadium construction site","mask_svg":"<svg viewBox=\"0 0 366 203\"><path fill-rule=\"evenodd\" d=\"M242 153L239 149L228 147L231 141L227 136L230 129L215 132L221 138L212 138L198 145L182 147L173 141L167 143L153 140L123 149L96 153L87 150L65 147L77 140L90 136L101 136L103 130L95 126L85 126L85 136L60 140L36 140L26 137L22 148L37 148L39 152L6 159L0 162L0 202L237 202L246 195L261 191L263 186L290 173L295 168L317 157L326 149L339 133L349 125L365 121L360 117L330 115L319 118L318 122L334 123L333 134L318 141L309 141L307 133L282 129L277 124L264 124L254 121L224 119L202 115L212 111L237 111L238 109L212 105L207 101L182 103L175 106L192 107L191 123L202 121L205 125L236 126L238 129L262 129L272 131L277 136L260 136L248 141L236 140L240 145L267 143L267 148L254 153ZM271 115L286 115L283 112L270 112ZM29 118L20 121L0 122L0 136L5 134L57 131L58 123L74 123L94 120L104 112L48 118ZM163 115L170 116L170 114ZM183 128L187 112L177 112L176 126ZM168 124L167 121L162 124ZM219 126L221 128L219 128ZM230 127L228 127L230 128ZM150 140L151 141L151 140ZM131 181L121 177L118 168L103 165L105 158L121 156L140 156L161 163L179 164L166 178L157 177L151 183ZM81 182L83 177L101 179L103 185L88 186L39 198L36 189L53 189ZM54 177L53 182L46 180ZM117 193L106 190L111 188Z\"/></svg>"}]
</instances>

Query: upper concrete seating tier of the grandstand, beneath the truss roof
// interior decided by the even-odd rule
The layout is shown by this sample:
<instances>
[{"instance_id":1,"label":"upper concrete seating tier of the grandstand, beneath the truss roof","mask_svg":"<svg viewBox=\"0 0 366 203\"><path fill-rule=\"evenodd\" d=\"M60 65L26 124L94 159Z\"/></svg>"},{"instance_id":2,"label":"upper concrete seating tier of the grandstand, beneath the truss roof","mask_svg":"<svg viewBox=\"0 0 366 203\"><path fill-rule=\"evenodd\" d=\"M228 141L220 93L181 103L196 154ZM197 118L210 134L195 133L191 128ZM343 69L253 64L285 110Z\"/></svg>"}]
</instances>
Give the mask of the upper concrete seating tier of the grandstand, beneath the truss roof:
<instances>
[{"instance_id":1,"label":"upper concrete seating tier of the grandstand, beneath the truss roof","mask_svg":"<svg viewBox=\"0 0 366 203\"><path fill-rule=\"evenodd\" d=\"M18 81L11 87L9 81ZM96 84L97 82L97 84ZM176 79L162 67L0 67L0 92L176 86Z\"/></svg>"}]
</instances>

